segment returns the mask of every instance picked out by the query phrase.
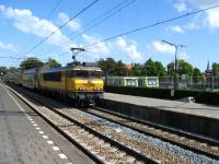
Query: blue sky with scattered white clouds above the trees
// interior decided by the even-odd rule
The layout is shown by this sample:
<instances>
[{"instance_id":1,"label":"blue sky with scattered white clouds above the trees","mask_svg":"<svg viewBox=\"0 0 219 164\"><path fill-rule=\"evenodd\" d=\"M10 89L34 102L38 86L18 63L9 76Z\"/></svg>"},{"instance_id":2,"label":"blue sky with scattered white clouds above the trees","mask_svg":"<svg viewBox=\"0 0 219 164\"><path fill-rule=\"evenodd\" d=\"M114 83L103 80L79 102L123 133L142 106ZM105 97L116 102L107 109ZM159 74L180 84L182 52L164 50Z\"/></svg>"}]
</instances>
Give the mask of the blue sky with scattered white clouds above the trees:
<instances>
[{"instance_id":1,"label":"blue sky with scattered white clouds above the trees","mask_svg":"<svg viewBox=\"0 0 219 164\"><path fill-rule=\"evenodd\" d=\"M217 5L219 0L94 1L0 0L0 66L18 67L27 57L42 61L54 58L66 65L72 61L71 47L85 48L77 55L79 61L112 57L125 63L143 63L152 58L166 66L174 60L175 48L162 40L184 45L178 47L177 58L201 71L208 61L219 62L219 8L93 45ZM81 12L91 3L93 5Z\"/></svg>"}]
</instances>

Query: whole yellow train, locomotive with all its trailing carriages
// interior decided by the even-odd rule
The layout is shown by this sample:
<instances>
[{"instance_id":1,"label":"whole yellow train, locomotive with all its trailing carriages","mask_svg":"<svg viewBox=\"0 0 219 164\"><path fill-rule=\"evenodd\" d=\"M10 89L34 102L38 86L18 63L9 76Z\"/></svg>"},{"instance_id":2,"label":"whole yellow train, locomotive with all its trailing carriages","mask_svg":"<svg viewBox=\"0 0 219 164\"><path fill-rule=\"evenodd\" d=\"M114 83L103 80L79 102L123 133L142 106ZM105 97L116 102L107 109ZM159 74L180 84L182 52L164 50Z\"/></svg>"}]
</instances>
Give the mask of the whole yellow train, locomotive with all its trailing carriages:
<instances>
[{"instance_id":1,"label":"whole yellow train, locomotive with all its trailing carriages","mask_svg":"<svg viewBox=\"0 0 219 164\"><path fill-rule=\"evenodd\" d=\"M8 74L9 82L68 97L74 106L95 106L103 98L102 70L93 62Z\"/></svg>"}]
</instances>

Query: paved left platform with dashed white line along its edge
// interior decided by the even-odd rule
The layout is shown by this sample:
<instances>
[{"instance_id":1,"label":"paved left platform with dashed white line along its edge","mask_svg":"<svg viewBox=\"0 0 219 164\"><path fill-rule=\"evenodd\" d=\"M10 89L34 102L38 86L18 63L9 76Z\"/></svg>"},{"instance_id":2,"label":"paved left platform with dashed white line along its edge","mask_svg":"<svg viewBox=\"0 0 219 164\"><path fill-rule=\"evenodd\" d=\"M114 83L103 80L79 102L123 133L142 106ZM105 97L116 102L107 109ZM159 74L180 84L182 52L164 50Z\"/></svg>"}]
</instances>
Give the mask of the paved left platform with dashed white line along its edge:
<instances>
[{"instance_id":1,"label":"paved left platform with dashed white line along its edge","mask_svg":"<svg viewBox=\"0 0 219 164\"><path fill-rule=\"evenodd\" d=\"M0 83L0 164L92 164Z\"/></svg>"}]
</instances>

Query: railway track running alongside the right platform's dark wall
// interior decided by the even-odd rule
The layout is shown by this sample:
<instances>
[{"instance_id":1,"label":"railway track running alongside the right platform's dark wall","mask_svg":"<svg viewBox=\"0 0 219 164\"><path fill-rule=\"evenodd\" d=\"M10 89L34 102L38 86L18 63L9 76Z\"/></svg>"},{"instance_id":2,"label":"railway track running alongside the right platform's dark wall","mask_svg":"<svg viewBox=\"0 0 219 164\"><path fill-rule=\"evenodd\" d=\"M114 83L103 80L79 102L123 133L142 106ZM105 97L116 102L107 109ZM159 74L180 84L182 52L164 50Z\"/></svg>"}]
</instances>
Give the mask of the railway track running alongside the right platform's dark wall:
<instances>
[{"instance_id":1,"label":"railway track running alongside the right platform's dark wall","mask_svg":"<svg viewBox=\"0 0 219 164\"><path fill-rule=\"evenodd\" d=\"M89 114L102 117L115 124L119 124L138 132L159 138L163 141L176 144L193 152L219 160L219 141L186 133L175 129L161 127L143 120L137 120L118 113L114 113L100 107L88 108Z\"/></svg>"}]
</instances>

